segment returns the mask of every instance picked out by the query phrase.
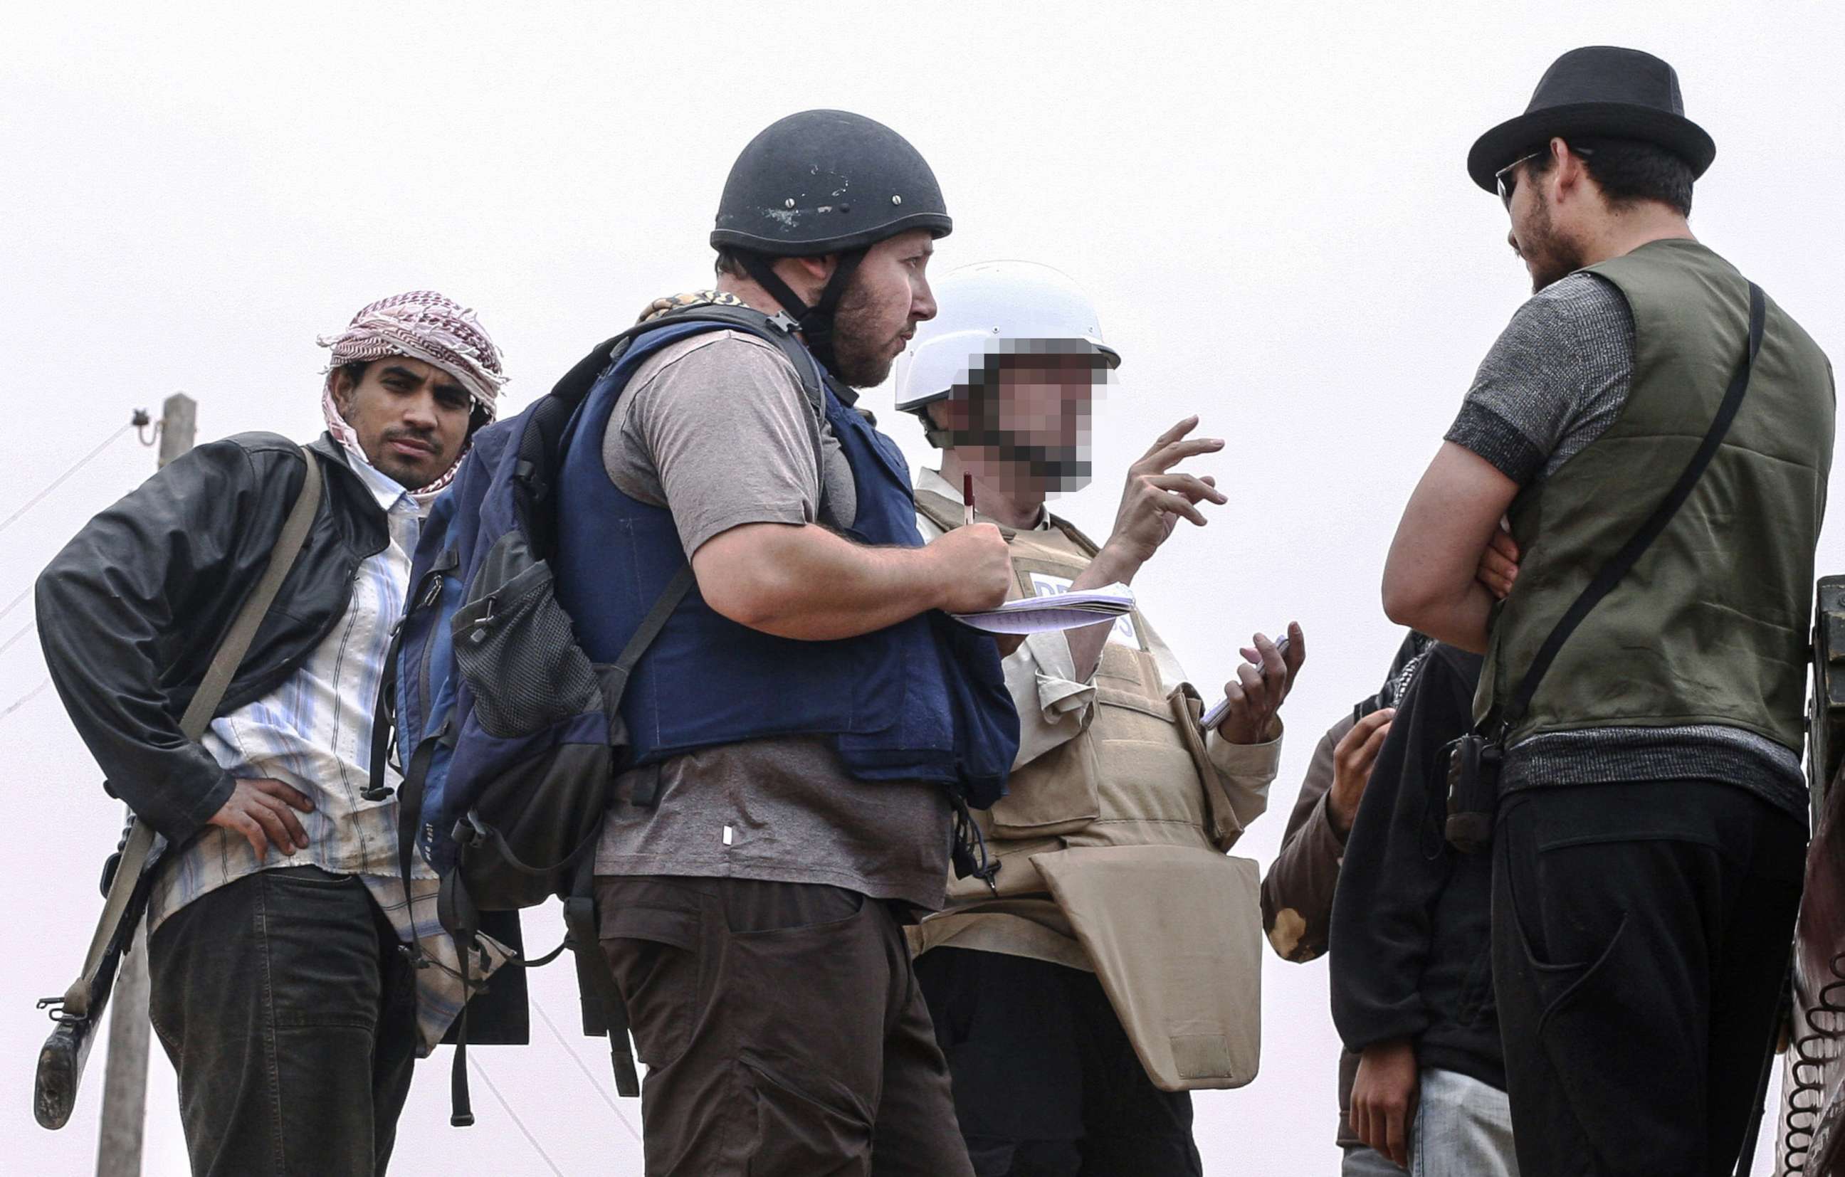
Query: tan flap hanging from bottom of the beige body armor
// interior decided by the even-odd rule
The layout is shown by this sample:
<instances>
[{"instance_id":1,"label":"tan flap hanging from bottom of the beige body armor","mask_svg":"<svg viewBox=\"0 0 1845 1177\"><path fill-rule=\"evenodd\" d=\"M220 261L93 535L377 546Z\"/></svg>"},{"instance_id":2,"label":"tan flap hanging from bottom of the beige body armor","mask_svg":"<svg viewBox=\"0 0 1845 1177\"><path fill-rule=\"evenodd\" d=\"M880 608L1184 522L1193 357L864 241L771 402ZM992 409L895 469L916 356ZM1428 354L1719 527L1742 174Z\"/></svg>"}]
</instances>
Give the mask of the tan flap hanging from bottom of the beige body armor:
<instances>
[{"instance_id":1,"label":"tan flap hanging from bottom of the beige body armor","mask_svg":"<svg viewBox=\"0 0 1845 1177\"><path fill-rule=\"evenodd\" d=\"M1242 1087L1262 1061L1260 871L1186 847L1033 854L1161 1090Z\"/></svg>"}]
</instances>

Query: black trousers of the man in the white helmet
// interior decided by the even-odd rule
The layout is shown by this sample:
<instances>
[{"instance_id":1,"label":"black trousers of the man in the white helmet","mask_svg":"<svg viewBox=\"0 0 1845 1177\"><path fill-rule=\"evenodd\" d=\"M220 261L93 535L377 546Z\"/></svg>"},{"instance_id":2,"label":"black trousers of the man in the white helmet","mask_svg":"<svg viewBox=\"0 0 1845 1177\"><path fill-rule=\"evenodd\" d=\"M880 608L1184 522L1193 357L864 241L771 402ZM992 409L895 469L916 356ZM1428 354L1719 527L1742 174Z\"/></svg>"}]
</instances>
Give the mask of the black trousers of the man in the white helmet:
<instances>
[{"instance_id":1,"label":"black trousers of the man in the white helmet","mask_svg":"<svg viewBox=\"0 0 1845 1177\"><path fill-rule=\"evenodd\" d=\"M1196 1177L1192 1096L1153 1087L1092 972L934 948L917 980L978 1177Z\"/></svg>"}]
</instances>

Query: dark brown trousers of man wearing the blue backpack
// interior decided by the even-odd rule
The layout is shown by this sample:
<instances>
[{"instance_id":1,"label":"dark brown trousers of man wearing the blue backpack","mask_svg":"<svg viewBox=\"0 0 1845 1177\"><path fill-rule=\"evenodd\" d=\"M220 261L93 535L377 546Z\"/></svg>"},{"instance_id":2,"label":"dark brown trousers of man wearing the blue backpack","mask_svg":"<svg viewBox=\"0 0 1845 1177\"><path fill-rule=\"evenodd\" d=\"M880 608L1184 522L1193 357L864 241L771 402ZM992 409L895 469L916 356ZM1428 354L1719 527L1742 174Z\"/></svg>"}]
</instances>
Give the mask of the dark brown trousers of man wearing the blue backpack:
<instances>
[{"instance_id":1,"label":"dark brown trousers of man wearing the blue backpack","mask_svg":"<svg viewBox=\"0 0 1845 1177\"><path fill-rule=\"evenodd\" d=\"M646 1171L970 1177L948 1068L891 910L856 891L601 876Z\"/></svg>"}]
</instances>

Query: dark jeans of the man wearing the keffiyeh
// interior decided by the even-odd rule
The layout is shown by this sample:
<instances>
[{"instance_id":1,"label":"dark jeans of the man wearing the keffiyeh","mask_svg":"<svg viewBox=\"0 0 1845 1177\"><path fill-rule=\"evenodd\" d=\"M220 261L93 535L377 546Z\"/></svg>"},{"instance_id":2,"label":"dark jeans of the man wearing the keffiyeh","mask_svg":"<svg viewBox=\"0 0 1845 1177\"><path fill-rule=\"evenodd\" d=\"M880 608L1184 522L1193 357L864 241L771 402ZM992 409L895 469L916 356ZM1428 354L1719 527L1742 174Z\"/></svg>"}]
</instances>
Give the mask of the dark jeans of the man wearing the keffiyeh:
<instances>
[{"instance_id":1,"label":"dark jeans of the man wearing the keffiyeh","mask_svg":"<svg viewBox=\"0 0 1845 1177\"><path fill-rule=\"evenodd\" d=\"M384 1173L417 996L363 882L317 867L240 878L161 924L148 972L196 1175Z\"/></svg>"}]
</instances>

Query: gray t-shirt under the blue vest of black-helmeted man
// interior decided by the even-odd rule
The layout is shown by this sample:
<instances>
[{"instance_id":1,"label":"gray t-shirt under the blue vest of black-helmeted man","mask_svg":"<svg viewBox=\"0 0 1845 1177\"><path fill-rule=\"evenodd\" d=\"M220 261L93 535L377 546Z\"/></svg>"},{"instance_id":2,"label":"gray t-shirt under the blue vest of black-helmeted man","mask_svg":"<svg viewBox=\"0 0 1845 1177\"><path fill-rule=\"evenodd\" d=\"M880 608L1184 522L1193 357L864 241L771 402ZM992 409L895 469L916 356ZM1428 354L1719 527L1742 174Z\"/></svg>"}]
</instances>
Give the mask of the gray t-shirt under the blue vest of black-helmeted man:
<instances>
[{"instance_id":1,"label":"gray t-shirt under the blue vest of black-helmeted man","mask_svg":"<svg viewBox=\"0 0 1845 1177\"><path fill-rule=\"evenodd\" d=\"M744 524L849 528L858 513L830 426L788 358L755 336L705 332L662 349L629 380L601 445L624 494L672 511L688 557ZM810 882L943 904L950 817L934 784L858 780L823 738L727 743L659 773L653 808L631 804L635 773L616 780L598 874Z\"/></svg>"}]
</instances>

